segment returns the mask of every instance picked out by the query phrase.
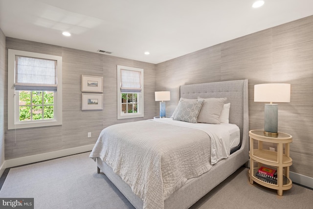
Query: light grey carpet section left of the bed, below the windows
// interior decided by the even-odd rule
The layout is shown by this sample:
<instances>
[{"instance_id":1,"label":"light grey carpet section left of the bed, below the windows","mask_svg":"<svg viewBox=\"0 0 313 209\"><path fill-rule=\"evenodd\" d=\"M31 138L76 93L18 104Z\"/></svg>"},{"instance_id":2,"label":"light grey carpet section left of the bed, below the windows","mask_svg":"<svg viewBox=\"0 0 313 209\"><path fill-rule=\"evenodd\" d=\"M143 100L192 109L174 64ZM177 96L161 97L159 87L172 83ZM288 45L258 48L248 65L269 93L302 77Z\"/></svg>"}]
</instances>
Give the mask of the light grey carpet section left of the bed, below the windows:
<instances>
[{"instance_id":1,"label":"light grey carpet section left of the bed, below the windows","mask_svg":"<svg viewBox=\"0 0 313 209\"><path fill-rule=\"evenodd\" d=\"M134 209L88 153L11 168L0 197L34 198L35 209Z\"/></svg>"}]
</instances>

